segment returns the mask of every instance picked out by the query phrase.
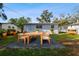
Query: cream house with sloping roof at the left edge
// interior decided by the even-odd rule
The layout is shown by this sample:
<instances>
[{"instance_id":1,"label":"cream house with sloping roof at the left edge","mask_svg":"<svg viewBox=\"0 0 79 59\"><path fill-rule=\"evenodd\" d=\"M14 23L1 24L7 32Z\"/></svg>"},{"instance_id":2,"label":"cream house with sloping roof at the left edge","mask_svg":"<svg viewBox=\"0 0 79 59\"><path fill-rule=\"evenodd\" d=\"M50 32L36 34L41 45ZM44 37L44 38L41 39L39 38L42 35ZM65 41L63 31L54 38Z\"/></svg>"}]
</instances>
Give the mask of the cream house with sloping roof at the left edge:
<instances>
[{"instance_id":1,"label":"cream house with sloping roof at the left edge","mask_svg":"<svg viewBox=\"0 0 79 59\"><path fill-rule=\"evenodd\" d=\"M16 30L16 31L21 31L20 28L18 28L16 25L12 24L12 23L0 23L0 29L5 29L7 30L8 28L13 28Z\"/></svg>"}]
</instances>

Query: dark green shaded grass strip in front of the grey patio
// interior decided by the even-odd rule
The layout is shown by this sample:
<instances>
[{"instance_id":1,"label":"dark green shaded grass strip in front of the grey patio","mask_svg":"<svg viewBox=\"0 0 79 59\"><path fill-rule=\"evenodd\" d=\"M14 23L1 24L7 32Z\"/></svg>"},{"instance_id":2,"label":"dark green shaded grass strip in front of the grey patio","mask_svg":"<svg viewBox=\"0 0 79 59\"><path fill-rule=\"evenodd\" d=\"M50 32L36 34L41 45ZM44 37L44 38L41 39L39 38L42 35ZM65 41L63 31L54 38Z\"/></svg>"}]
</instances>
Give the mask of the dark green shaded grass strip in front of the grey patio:
<instances>
[{"instance_id":1,"label":"dark green shaded grass strip in front of the grey patio","mask_svg":"<svg viewBox=\"0 0 79 59\"><path fill-rule=\"evenodd\" d=\"M0 49L0 56L67 56L71 49Z\"/></svg>"}]
</instances>

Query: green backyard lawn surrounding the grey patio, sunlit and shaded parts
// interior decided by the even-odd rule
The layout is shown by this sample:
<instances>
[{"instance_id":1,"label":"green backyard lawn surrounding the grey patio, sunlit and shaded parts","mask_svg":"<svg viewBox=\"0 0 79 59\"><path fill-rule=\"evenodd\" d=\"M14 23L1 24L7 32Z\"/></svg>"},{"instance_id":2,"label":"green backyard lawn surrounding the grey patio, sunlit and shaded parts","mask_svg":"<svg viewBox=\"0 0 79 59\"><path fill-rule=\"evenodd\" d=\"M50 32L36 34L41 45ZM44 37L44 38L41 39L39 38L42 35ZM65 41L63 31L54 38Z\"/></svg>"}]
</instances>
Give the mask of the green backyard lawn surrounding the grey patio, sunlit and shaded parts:
<instances>
[{"instance_id":1,"label":"green backyard lawn surrounding the grey patio, sunlit and shaded parts","mask_svg":"<svg viewBox=\"0 0 79 59\"><path fill-rule=\"evenodd\" d=\"M51 38L53 38L56 42L60 41L61 39L69 39L69 40L78 40L79 35L69 35L69 34L52 34ZM4 48L0 49L0 55L27 55L27 56L63 56L69 55L72 51L71 48L54 48L50 46L50 48L5 48L11 42L17 42L17 39L13 36L8 36L6 39L0 41L0 46L4 46Z\"/></svg>"}]
</instances>

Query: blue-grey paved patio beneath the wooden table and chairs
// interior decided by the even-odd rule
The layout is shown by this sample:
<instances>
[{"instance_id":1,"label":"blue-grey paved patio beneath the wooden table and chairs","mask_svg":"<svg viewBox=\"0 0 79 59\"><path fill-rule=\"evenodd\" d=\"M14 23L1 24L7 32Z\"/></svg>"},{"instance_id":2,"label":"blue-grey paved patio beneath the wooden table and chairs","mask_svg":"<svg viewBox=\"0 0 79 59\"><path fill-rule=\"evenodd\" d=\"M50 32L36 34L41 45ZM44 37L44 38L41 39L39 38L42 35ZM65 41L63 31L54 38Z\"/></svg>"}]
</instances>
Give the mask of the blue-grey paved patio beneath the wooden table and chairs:
<instances>
[{"instance_id":1,"label":"blue-grey paved patio beneath the wooden table and chairs","mask_svg":"<svg viewBox=\"0 0 79 59\"><path fill-rule=\"evenodd\" d=\"M26 44L26 47L24 47L23 41L20 40L19 44L17 42L12 42L6 46L7 48L40 48L40 40L32 38L29 47ZM63 45L60 45L55 42L54 39L51 39L51 44L48 44L48 41L43 41L42 48L65 48Z\"/></svg>"}]
</instances>

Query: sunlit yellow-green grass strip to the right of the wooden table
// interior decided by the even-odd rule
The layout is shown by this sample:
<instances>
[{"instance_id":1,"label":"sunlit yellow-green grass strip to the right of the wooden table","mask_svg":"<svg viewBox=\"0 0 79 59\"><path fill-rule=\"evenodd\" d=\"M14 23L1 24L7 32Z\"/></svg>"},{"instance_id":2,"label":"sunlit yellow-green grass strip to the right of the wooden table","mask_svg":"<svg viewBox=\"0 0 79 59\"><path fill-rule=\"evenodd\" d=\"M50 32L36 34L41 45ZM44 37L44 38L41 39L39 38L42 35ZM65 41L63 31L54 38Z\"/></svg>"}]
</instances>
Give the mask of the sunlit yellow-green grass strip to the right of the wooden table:
<instances>
[{"instance_id":1,"label":"sunlit yellow-green grass strip to the right of the wooden table","mask_svg":"<svg viewBox=\"0 0 79 59\"><path fill-rule=\"evenodd\" d=\"M54 40L59 41L62 39L69 39L69 40L79 40L79 35L70 35L70 34L52 34L51 36Z\"/></svg>"}]
</instances>

